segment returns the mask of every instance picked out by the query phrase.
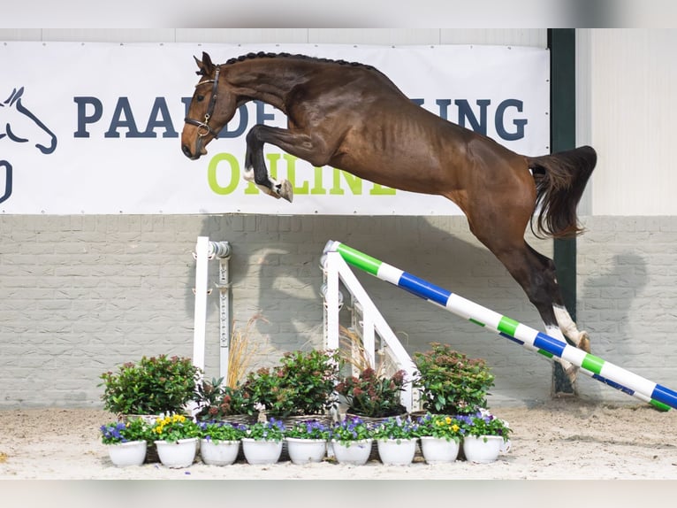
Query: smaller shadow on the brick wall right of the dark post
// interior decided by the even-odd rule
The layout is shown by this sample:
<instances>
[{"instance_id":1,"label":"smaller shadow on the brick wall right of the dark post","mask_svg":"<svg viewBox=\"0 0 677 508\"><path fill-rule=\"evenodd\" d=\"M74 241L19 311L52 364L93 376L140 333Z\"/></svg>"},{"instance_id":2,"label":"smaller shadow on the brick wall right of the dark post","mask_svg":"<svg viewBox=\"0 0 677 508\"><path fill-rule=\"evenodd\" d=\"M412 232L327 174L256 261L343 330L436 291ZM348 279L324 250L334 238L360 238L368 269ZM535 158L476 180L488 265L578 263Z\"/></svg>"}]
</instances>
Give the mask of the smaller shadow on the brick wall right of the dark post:
<instances>
[{"instance_id":1,"label":"smaller shadow on the brick wall right of the dark post","mask_svg":"<svg viewBox=\"0 0 677 508\"><path fill-rule=\"evenodd\" d=\"M630 313L648 280L646 260L635 253L624 252L613 256L608 268L587 278L579 296L582 306L579 321L582 313L589 319L587 323L582 322L582 328L590 334L592 354L631 372L632 360L643 337L639 327L634 327ZM590 380L584 393L601 400L608 398L607 390L614 389Z\"/></svg>"}]
</instances>

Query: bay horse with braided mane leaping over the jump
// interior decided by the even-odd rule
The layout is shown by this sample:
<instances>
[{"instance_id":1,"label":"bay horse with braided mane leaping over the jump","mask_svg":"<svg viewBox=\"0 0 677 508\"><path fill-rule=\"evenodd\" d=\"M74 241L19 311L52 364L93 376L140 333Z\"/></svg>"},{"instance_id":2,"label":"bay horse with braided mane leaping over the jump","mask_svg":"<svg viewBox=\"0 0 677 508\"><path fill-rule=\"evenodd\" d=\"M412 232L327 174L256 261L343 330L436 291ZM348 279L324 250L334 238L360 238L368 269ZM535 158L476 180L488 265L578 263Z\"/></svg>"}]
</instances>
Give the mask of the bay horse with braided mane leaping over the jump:
<instances>
[{"instance_id":1,"label":"bay horse with braided mane leaping over the jump","mask_svg":"<svg viewBox=\"0 0 677 508\"><path fill-rule=\"evenodd\" d=\"M588 334L578 330L563 303L554 262L529 246L524 234L529 224L540 237L582 233L576 206L597 163L594 149L520 155L428 112L369 65L285 53L250 53L223 65L205 52L202 60L194 59L201 78L181 133L186 157L206 154L241 104L270 104L285 113L287 128L249 129L247 180L292 201L291 184L275 181L265 165L263 144L271 143L314 166L445 196L520 284L548 335L590 351ZM576 368L559 361L573 381Z\"/></svg>"}]
</instances>

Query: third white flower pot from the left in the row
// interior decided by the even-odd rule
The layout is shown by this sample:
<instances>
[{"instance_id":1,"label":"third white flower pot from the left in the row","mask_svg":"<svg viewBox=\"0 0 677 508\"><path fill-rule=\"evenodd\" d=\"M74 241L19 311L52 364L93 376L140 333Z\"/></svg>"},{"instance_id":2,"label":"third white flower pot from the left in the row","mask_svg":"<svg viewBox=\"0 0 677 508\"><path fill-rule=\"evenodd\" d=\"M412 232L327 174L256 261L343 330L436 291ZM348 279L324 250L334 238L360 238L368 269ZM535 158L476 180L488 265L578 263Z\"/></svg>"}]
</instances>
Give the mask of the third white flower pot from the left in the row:
<instances>
[{"instance_id":1,"label":"third white flower pot from the left in the row","mask_svg":"<svg viewBox=\"0 0 677 508\"><path fill-rule=\"evenodd\" d=\"M228 466L238 458L240 440L247 427L224 421L198 423L200 427L200 456L208 466Z\"/></svg>"}]
</instances>

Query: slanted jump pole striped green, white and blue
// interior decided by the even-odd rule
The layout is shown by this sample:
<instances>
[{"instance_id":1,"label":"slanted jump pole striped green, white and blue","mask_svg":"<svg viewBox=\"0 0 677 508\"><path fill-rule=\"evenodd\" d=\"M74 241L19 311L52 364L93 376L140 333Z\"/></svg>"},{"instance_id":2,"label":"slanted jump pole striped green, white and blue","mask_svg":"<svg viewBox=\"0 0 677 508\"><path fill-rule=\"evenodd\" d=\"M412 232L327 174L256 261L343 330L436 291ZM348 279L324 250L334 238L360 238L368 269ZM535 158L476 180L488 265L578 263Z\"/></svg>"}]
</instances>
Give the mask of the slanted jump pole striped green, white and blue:
<instances>
[{"instance_id":1,"label":"slanted jump pole striped green, white and blue","mask_svg":"<svg viewBox=\"0 0 677 508\"><path fill-rule=\"evenodd\" d=\"M619 389L628 395L635 396L660 410L667 411L671 407L677 408L677 392L672 389L667 389L602 358L563 343L551 335L545 335L534 328L522 325L514 319L475 304L429 281L424 281L411 273L388 265L377 258L372 258L345 243L330 240L325 245L324 252L338 252L346 263L355 268L374 275L382 281L390 282L430 303L440 305L447 311L468 319L475 325L487 327L513 343L518 343L529 350L536 350L547 358L565 359L574 366L580 367L582 373L588 374L593 379Z\"/></svg>"}]
</instances>

